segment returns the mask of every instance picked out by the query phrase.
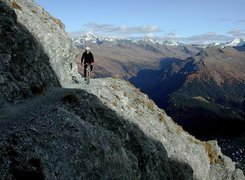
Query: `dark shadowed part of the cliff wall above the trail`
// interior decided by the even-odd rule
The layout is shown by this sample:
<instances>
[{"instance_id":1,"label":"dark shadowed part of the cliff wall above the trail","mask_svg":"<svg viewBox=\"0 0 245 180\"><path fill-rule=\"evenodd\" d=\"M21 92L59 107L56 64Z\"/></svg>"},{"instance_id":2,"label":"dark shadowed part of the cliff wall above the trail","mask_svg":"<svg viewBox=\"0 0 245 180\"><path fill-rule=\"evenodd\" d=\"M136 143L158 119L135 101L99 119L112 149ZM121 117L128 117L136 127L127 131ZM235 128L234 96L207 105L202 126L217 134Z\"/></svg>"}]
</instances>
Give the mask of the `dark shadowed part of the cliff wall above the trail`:
<instances>
[{"instance_id":1,"label":"dark shadowed part of the cliff wall above the trail","mask_svg":"<svg viewBox=\"0 0 245 180\"><path fill-rule=\"evenodd\" d=\"M60 86L42 44L3 1L0 12L0 107Z\"/></svg>"}]
</instances>

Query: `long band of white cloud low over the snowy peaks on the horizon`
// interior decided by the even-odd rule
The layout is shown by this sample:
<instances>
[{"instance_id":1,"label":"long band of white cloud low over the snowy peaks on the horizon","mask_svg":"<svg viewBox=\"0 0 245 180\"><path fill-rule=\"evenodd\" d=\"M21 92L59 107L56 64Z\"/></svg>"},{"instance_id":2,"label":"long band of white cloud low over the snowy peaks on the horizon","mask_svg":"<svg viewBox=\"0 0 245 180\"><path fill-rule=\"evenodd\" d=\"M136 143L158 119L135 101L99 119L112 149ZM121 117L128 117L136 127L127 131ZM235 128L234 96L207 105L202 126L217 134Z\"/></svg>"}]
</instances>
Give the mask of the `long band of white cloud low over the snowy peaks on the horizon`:
<instances>
[{"instance_id":1,"label":"long band of white cloud low over the snowy peaks on the horizon","mask_svg":"<svg viewBox=\"0 0 245 180\"><path fill-rule=\"evenodd\" d=\"M223 19L224 20L224 19ZM228 19L226 19L228 20ZM79 36L84 33L94 34L99 37L115 37L115 38L141 38L143 36L151 37L158 40L171 40L192 44L210 44L224 43L233 40L235 37L245 39L245 30L233 29L227 34L217 34L215 32L206 32L189 37L181 37L172 30L163 34L156 25L144 26L125 26L112 24L89 23L83 26L82 31L70 33L71 36Z\"/></svg>"}]
</instances>

